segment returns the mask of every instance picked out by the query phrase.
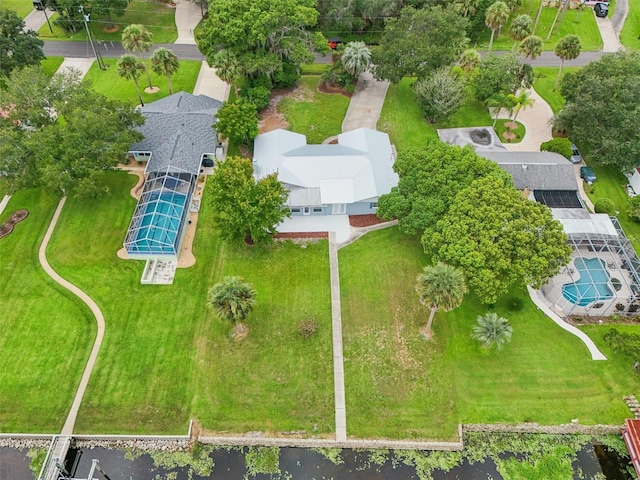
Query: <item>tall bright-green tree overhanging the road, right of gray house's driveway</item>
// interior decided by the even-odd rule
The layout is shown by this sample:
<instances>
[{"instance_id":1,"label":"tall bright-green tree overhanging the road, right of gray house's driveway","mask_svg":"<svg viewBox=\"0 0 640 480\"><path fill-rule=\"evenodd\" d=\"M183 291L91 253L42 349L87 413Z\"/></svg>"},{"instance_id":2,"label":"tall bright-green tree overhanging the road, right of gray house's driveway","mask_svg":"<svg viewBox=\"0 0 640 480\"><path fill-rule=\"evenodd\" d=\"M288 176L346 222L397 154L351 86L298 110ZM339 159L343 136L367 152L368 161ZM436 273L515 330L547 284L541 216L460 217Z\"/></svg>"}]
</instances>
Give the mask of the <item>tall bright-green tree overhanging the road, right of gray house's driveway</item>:
<instances>
[{"instance_id":1,"label":"tall bright-green tree overhanging the road, right of gray house's driveway","mask_svg":"<svg viewBox=\"0 0 640 480\"><path fill-rule=\"evenodd\" d=\"M216 0L198 35L198 46L214 68L229 52L244 77L273 77L291 64L313 61L315 50L328 49L321 33L310 29L318 20L314 0Z\"/></svg>"}]
</instances>

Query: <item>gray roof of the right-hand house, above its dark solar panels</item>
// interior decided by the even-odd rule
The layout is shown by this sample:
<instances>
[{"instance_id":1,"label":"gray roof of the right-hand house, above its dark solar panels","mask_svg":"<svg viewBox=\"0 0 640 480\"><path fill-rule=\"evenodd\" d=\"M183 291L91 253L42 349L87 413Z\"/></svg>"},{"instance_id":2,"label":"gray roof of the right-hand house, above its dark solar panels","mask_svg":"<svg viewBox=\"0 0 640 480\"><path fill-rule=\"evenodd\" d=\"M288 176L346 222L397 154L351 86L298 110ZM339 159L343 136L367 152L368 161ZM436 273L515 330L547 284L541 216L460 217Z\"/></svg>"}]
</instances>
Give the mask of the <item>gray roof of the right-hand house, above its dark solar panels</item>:
<instances>
[{"instance_id":1,"label":"gray roof of the right-hand house, above its dark solar panels","mask_svg":"<svg viewBox=\"0 0 640 480\"><path fill-rule=\"evenodd\" d=\"M513 178L518 190L577 190L573 164L552 152L479 151L493 160Z\"/></svg>"}]
</instances>

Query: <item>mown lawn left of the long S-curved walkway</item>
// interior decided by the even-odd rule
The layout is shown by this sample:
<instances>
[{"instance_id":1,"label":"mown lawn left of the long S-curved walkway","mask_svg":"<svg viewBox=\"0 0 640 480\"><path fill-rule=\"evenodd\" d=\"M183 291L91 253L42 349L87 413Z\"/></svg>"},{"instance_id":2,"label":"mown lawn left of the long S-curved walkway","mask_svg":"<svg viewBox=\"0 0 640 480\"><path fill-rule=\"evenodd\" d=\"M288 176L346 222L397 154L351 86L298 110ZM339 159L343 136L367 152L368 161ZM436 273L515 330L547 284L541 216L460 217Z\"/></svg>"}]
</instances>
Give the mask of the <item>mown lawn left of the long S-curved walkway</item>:
<instances>
[{"instance_id":1,"label":"mown lawn left of the long S-curved walkway","mask_svg":"<svg viewBox=\"0 0 640 480\"><path fill-rule=\"evenodd\" d=\"M0 217L29 216L0 239L0 431L57 432L66 419L95 336L95 320L42 270L38 249L58 199L12 196Z\"/></svg>"}]
</instances>

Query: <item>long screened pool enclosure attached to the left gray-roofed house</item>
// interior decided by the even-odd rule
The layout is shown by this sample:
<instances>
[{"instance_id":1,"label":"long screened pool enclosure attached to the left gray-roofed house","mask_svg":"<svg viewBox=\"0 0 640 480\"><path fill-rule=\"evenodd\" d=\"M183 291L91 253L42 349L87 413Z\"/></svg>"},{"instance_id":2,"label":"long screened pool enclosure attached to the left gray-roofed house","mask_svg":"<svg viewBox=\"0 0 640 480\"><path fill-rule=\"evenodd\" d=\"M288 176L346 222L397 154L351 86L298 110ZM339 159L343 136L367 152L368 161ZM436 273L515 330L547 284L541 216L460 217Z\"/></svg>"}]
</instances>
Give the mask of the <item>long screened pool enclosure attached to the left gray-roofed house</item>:
<instances>
[{"instance_id":1,"label":"long screened pool enclosure attached to the left gray-roofed house","mask_svg":"<svg viewBox=\"0 0 640 480\"><path fill-rule=\"evenodd\" d=\"M195 180L171 170L148 175L124 242L130 257L177 258Z\"/></svg>"}]
</instances>

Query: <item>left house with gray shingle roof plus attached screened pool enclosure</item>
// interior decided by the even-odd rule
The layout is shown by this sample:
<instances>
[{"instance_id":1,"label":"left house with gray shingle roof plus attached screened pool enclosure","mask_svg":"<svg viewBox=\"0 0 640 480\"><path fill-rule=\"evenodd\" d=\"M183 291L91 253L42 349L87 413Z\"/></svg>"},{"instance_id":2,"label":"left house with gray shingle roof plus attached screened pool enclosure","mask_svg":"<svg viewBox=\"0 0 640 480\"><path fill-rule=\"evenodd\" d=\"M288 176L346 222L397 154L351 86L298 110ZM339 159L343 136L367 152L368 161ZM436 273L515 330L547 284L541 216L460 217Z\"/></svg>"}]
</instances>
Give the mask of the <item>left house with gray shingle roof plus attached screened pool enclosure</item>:
<instances>
[{"instance_id":1,"label":"left house with gray shingle roof plus attached screened pool enclosure","mask_svg":"<svg viewBox=\"0 0 640 480\"><path fill-rule=\"evenodd\" d=\"M146 162L146 179L124 241L129 258L178 259L202 161L214 158L214 115L221 106L179 92L142 107L144 139L129 155Z\"/></svg>"}]
</instances>

